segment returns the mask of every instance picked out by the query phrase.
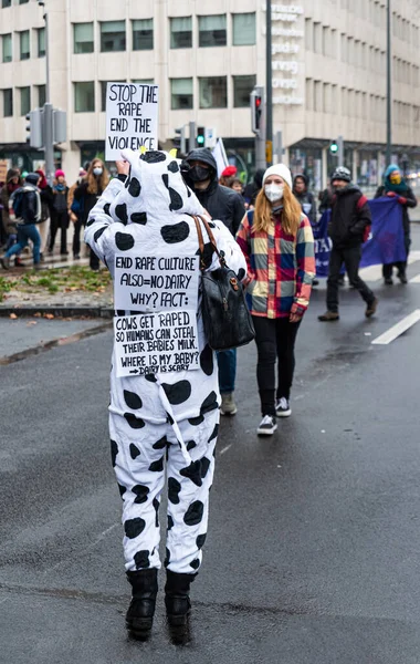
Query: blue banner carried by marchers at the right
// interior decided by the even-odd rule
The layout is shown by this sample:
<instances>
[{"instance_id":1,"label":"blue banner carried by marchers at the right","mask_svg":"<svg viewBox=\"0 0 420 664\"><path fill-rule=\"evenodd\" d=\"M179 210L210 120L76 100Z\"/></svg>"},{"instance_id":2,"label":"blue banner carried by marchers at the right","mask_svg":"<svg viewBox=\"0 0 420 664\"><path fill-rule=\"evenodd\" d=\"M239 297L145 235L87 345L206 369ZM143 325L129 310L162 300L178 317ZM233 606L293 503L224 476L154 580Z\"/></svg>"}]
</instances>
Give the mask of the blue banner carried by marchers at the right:
<instances>
[{"instance_id":1,"label":"blue banner carried by marchers at the right","mask_svg":"<svg viewBox=\"0 0 420 664\"><path fill-rule=\"evenodd\" d=\"M402 227L402 207L397 198L375 198L369 200L371 211L371 231L361 248L360 267L385 264L406 260ZM332 240L327 227L330 210L323 214L313 226L315 239L316 276L328 277Z\"/></svg>"}]
</instances>

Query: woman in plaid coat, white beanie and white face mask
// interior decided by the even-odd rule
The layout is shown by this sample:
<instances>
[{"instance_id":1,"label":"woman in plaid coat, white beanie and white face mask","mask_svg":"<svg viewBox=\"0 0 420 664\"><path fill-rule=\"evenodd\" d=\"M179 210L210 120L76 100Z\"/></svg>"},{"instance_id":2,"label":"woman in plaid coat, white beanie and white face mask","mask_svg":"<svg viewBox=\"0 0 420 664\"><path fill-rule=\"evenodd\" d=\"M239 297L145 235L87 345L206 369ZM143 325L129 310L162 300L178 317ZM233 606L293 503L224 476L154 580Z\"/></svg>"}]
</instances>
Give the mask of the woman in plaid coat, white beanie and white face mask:
<instances>
[{"instance_id":1,"label":"woman in plaid coat, white beanie and white face mask","mask_svg":"<svg viewBox=\"0 0 420 664\"><path fill-rule=\"evenodd\" d=\"M265 170L255 209L243 218L237 241L248 263L246 299L258 347L263 418L256 433L270 436L277 428L276 417L292 414L294 346L315 277L311 222L292 194L291 172L283 164Z\"/></svg>"}]
</instances>

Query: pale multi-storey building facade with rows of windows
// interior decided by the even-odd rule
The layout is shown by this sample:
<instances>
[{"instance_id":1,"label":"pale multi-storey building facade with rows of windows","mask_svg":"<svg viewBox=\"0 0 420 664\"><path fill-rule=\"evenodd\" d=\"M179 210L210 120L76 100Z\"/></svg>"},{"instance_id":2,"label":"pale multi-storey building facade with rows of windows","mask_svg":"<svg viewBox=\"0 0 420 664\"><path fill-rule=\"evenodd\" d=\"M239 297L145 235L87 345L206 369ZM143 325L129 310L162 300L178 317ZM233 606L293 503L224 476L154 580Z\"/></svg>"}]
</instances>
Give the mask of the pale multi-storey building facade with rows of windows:
<instances>
[{"instance_id":1,"label":"pale multi-storey building facade with rows of windows","mask_svg":"<svg viewBox=\"0 0 420 664\"><path fill-rule=\"evenodd\" d=\"M67 111L67 174L104 151L108 81L160 89L159 141L195 121L223 137L244 173L254 163L249 95L265 84L265 0L0 0L0 158L29 168L42 153L25 144L25 114L45 100ZM420 169L420 11L400 0L392 14L393 145ZM49 17L45 39L43 10ZM48 41L48 43L46 43ZM385 166L385 0L272 2L274 132L284 160L319 188L343 135L360 184Z\"/></svg>"}]
</instances>

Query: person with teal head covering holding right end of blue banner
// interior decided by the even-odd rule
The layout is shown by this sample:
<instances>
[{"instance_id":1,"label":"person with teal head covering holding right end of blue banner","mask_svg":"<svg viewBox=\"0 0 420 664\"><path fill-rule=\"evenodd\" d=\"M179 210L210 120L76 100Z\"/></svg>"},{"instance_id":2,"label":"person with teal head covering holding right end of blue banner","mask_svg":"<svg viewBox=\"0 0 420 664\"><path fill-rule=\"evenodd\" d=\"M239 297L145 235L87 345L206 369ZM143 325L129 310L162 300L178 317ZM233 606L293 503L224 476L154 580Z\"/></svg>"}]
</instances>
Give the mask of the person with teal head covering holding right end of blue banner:
<instances>
[{"instance_id":1,"label":"person with teal head covering holding right end of blue banner","mask_svg":"<svg viewBox=\"0 0 420 664\"><path fill-rule=\"evenodd\" d=\"M408 215L408 208L414 208L417 206L417 198L412 189L405 183L401 176L401 172L396 164L388 166L385 172L385 183L378 188L375 198L381 196L389 196L390 198L397 197L398 203L402 207L402 227L405 235L405 245L407 251L407 258L410 251L411 238L410 238L410 217ZM407 258L395 263L387 263L382 266L382 274L385 283L392 286L392 270L397 268L397 277L401 283L407 283Z\"/></svg>"}]
</instances>

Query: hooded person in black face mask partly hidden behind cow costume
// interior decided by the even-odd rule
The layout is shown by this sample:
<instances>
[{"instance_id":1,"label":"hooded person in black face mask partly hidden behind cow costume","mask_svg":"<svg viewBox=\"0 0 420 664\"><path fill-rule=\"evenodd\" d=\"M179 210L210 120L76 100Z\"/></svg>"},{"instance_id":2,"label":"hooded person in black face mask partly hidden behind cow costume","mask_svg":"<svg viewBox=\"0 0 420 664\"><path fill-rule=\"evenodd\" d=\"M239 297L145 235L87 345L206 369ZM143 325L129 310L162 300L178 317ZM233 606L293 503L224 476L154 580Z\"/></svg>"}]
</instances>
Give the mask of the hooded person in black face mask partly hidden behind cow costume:
<instances>
[{"instance_id":1,"label":"hooded person in black face mask partly hidden behind cow costume","mask_svg":"<svg viewBox=\"0 0 420 664\"><path fill-rule=\"evenodd\" d=\"M239 194L219 185L218 166L211 151L201 147L190 152L182 163L181 172L202 207L213 219L223 221L235 236L245 215L245 207ZM237 351L232 349L218 353L218 364L219 388L222 396L220 412L222 415L234 415L238 412L233 397Z\"/></svg>"}]
</instances>

